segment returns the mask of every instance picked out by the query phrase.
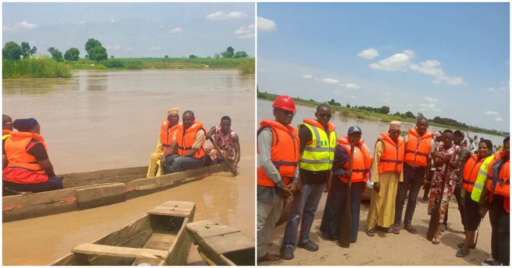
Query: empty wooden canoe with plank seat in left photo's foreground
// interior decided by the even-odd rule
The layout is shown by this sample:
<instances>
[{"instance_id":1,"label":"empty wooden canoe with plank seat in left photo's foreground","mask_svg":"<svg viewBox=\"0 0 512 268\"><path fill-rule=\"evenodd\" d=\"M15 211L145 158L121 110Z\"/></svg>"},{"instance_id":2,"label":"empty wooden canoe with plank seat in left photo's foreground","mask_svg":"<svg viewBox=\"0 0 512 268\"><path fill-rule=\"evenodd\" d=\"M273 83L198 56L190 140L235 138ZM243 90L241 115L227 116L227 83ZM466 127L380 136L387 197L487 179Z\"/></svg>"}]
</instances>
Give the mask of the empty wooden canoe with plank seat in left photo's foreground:
<instances>
[{"instance_id":1,"label":"empty wooden canoe with plank seat in left photo's foreground","mask_svg":"<svg viewBox=\"0 0 512 268\"><path fill-rule=\"evenodd\" d=\"M190 248L185 226L194 220L195 210L192 202L165 202L50 265L184 265Z\"/></svg>"}]
</instances>

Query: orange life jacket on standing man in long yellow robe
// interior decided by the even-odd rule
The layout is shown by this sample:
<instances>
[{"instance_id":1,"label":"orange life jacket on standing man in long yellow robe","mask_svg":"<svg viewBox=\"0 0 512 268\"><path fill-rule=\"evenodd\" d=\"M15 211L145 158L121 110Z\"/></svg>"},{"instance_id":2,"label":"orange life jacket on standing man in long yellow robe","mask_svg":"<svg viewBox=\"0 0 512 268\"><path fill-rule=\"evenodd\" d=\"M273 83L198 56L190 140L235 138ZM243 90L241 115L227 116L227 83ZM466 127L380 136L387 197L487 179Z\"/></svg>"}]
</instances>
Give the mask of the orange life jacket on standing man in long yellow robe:
<instances>
[{"instance_id":1,"label":"orange life jacket on standing man in long yellow robe","mask_svg":"<svg viewBox=\"0 0 512 268\"><path fill-rule=\"evenodd\" d=\"M403 138L399 136L397 144L388 133L380 132L377 142L379 140L384 144L384 153L382 153L379 160L379 174L385 172L400 174L402 172L404 154Z\"/></svg>"}]
</instances>

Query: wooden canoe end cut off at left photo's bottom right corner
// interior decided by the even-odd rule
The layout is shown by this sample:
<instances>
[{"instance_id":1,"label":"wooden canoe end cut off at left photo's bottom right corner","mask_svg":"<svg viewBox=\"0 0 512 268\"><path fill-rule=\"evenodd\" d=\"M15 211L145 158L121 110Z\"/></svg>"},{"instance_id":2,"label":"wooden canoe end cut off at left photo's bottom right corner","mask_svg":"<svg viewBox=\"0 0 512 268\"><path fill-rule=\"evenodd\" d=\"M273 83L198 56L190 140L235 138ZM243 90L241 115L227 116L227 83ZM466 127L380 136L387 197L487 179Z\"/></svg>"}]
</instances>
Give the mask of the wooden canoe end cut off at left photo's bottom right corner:
<instances>
[{"instance_id":1,"label":"wooden canoe end cut off at left photo's bottom right corner","mask_svg":"<svg viewBox=\"0 0 512 268\"><path fill-rule=\"evenodd\" d=\"M186 228L208 265L254 266L254 238L214 221L189 223Z\"/></svg>"}]
</instances>

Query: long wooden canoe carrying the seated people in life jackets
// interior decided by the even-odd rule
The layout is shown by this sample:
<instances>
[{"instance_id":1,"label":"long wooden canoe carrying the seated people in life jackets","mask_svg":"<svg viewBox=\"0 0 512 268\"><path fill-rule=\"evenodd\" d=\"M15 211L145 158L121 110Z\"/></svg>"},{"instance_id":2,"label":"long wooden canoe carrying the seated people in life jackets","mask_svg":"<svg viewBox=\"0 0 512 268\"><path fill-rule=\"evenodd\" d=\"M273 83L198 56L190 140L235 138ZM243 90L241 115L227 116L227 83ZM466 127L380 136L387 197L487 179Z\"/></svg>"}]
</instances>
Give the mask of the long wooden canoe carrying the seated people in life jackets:
<instances>
[{"instance_id":1,"label":"long wooden canoe carrying the seated people in life jackets","mask_svg":"<svg viewBox=\"0 0 512 268\"><path fill-rule=\"evenodd\" d=\"M227 168L217 164L151 178L145 178L147 166L65 174L59 176L61 190L3 197L2 222L124 202L223 171Z\"/></svg>"}]
</instances>

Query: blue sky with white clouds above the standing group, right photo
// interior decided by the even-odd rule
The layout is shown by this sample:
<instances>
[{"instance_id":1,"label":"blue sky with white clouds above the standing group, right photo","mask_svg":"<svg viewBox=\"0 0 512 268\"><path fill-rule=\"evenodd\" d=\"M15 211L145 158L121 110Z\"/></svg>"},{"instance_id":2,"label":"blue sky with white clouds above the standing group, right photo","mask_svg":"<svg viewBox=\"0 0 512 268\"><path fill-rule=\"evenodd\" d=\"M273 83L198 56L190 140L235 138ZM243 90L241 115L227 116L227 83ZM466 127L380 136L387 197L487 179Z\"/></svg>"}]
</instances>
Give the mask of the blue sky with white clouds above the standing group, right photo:
<instances>
[{"instance_id":1,"label":"blue sky with white clouds above the standing group, right photo","mask_svg":"<svg viewBox=\"0 0 512 268\"><path fill-rule=\"evenodd\" d=\"M508 3L258 3L260 91L509 130Z\"/></svg>"}]
</instances>

